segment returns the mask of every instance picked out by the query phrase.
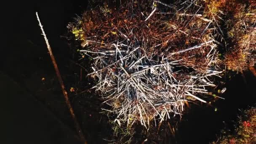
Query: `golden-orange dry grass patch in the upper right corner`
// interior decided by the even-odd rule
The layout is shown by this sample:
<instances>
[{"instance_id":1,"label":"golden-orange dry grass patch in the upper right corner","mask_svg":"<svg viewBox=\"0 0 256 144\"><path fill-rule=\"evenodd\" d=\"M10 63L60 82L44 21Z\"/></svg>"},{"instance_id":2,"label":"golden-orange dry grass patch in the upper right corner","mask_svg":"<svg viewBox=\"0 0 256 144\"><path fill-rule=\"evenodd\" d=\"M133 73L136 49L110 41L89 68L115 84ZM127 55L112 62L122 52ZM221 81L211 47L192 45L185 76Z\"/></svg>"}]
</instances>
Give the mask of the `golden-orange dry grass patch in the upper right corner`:
<instances>
[{"instance_id":1,"label":"golden-orange dry grass patch in the upper right corner","mask_svg":"<svg viewBox=\"0 0 256 144\"><path fill-rule=\"evenodd\" d=\"M205 0L208 16L214 18L222 34L223 52L229 70L242 72L256 62L256 5L253 0ZM225 17L225 18L224 18ZM222 19L223 18L223 19ZM224 23L220 26L220 23ZM225 34L225 31L227 34Z\"/></svg>"}]
</instances>

